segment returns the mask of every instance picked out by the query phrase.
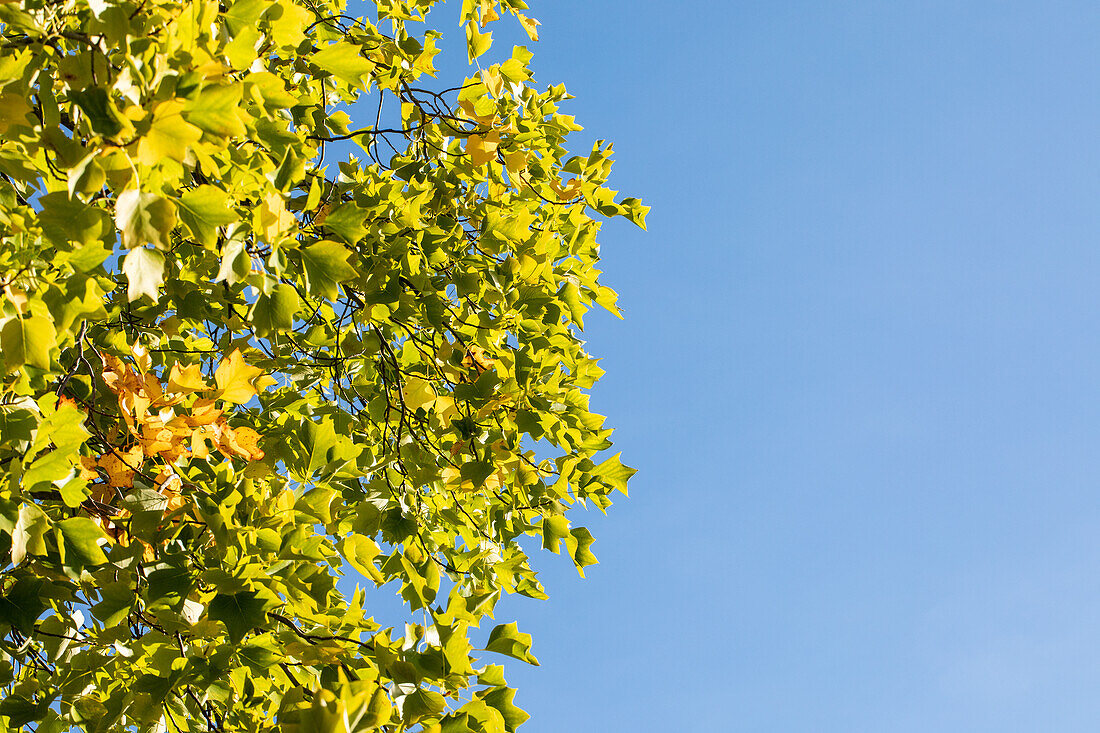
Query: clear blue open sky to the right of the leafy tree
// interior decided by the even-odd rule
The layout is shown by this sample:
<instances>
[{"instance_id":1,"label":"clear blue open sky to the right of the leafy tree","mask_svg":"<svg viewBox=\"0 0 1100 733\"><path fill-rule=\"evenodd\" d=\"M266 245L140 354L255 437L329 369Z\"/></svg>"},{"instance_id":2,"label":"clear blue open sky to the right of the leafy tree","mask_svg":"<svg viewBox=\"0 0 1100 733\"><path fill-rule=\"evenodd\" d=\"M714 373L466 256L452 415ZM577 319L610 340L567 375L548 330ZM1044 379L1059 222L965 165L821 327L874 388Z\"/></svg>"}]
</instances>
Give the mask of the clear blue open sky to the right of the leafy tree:
<instances>
[{"instance_id":1,"label":"clear blue open sky to the right of the leafy tree","mask_svg":"<svg viewBox=\"0 0 1100 733\"><path fill-rule=\"evenodd\" d=\"M522 731L1097 730L1100 4L530 4L653 211Z\"/></svg>"}]
</instances>

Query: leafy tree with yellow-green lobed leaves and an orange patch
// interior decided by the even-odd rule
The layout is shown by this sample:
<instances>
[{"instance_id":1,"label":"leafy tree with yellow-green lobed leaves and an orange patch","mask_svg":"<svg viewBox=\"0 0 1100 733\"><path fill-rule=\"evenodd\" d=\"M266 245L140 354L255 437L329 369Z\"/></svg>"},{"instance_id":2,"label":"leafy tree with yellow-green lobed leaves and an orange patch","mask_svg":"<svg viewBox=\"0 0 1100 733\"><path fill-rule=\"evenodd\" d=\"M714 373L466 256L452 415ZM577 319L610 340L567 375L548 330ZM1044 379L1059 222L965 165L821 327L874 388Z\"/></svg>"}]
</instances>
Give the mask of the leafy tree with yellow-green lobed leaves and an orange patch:
<instances>
[{"instance_id":1,"label":"leafy tree with yellow-green lobed leaves and an orange patch","mask_svg":"<svg viewBox=\"0 0 1100 733\"><path fill-rule=\"evenodd\" d=\"M544 598L522 536L583 575L568 511L626 491L579 331L591 215L647 209L526 47L488 63L521 0L437 9L447 81L435 0L375 4L0 2L9 729L526 720L486 623Z\"/></svg>"}]
</instances>

